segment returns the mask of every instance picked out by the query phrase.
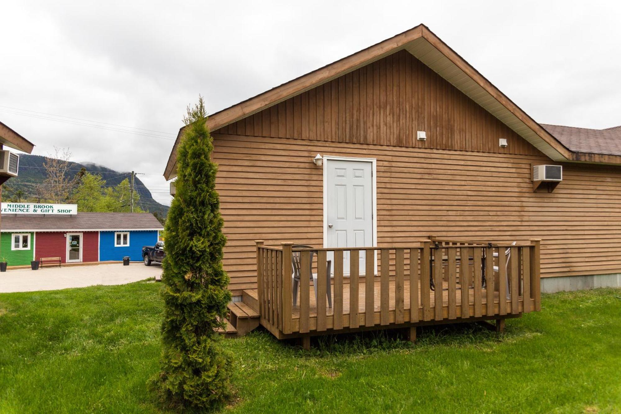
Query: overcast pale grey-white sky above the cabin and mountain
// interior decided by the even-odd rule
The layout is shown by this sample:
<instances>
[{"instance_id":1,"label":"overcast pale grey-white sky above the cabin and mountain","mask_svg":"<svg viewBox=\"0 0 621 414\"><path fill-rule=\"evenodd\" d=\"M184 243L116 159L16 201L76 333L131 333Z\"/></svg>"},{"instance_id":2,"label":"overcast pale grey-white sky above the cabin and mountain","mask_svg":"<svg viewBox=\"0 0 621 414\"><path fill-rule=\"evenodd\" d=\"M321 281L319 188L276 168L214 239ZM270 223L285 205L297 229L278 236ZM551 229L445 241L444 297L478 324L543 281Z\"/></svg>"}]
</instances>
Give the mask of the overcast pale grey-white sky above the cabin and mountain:
<instances>
[{"instance_id":1,"label":"overcast pale grey-white sky above the cabin and mountain","mask_svg":"<svg viewBox=\"0 0 621 414\"><path fill-rule=\"evenodd\" d=\"M169 204L162 173L199 93L214 113L424 23L536 121L621 124L619 2L174 3L1 0L0 121L34 154L145 173Z\"/></svg>"}]
</instances>

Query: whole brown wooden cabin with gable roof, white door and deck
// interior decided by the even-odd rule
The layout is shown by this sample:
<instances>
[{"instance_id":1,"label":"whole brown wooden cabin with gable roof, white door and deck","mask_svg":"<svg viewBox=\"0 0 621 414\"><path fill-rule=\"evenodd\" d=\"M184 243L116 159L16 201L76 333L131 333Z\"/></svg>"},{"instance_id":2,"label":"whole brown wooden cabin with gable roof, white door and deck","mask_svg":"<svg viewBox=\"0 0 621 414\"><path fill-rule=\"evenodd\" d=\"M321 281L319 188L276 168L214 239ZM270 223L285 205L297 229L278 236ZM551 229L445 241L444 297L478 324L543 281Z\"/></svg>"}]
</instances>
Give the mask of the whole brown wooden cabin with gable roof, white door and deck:
<instances>
[{"instance_id":1,"label":"whole brown wooden cabin with gable roof, white door and deck","mask_svg":"<svg viewBox=\"0 0 621 414\"><path fill-rule=\"evenodd\" d=\"M279 338L502 320L548 280L619 283L621 127L538 124L424 25L207 126L232 320ZM296 297L291 260L315 275Z\"/></svg>"}]
</instances>

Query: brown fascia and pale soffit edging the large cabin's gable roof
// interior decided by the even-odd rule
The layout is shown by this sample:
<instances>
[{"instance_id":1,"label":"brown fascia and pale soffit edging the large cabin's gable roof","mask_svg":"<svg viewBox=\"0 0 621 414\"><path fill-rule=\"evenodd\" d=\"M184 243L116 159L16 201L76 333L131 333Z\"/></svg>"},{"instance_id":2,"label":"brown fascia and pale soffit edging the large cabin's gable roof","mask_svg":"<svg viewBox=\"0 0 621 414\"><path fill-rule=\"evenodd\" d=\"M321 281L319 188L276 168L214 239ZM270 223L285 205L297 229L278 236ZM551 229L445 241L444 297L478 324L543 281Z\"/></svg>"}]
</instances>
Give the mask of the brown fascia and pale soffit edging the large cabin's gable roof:
<instances>
[{"instance_id":1,"label":"brown fascia and pale soffit edging the large cabin's gable roof","mask_svg":"<svg viewBox=\"0 0 621 414\"><path fill-rule=\"evenodd\" d=\"M418 25L390 39L353 53L322 68L300 76L283 85L276 86L253 98L222 109L207 119L207 127L215 131L220 127L237 122L244 117L270 108L286 99L304 93L311 88L343 76L350 71L363 67L399 50L407 50L422 63L442 76L446 81L469 96L489 113L530 142L555 161L584 160L576 156L558 139L535 122L505 94L492 85L481 73L471 67L460 55L448 47L425 25ZM164 172L166 180L176 174L176 148L183 135L184 128L179 129L175 145ZM619 155L589 154L588 162L621 163Z\"/></svg>"}]
</instances>

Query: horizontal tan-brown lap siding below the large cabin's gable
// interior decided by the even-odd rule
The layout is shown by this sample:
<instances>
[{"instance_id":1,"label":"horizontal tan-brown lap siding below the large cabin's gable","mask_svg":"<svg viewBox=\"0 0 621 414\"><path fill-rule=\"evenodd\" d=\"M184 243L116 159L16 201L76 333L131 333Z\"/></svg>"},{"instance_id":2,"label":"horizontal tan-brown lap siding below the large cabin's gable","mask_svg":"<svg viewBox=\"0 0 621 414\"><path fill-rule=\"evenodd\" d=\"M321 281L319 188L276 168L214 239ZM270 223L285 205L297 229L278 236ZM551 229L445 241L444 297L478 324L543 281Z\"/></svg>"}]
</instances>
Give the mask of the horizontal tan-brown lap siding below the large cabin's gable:
<instances>
[{"instance_id":1,"label":"horizontal tan-brown lap siding below the large cabin's gable","mask_svg":"<svg viewBox=\"0 0 621 414\"><path fill-rule=\"evenodd\" d=\"M214 160L234 292L255 287L256 239L322 246L318 152L378 160L379 247L429 234L540 238L542 277L621 272L621 173L614 167L566 164L553 193L533 193L531 166L548 162L543 156L219 134Z\"/></svg>"}]
</instances>

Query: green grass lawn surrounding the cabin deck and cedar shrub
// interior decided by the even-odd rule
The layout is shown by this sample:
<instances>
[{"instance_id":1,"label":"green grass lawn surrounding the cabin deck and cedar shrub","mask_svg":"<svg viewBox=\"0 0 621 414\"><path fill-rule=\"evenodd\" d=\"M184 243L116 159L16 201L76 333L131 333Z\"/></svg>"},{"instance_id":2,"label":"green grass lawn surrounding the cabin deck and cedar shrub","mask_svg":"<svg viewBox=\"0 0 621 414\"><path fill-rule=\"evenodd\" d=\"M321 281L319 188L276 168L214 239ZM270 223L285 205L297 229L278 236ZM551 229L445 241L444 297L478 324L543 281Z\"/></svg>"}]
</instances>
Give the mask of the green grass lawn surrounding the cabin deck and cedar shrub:
<instances>
[{"instance_id":1,"label":"green grass lawn surrounding the cabin deck and cedar shrub","mask_svg":"<svg viewBox=\"0 0 621 414\"><path fill-rule=\"evenodd\" d=\"M159 412L154 282L0 294L0 412ZM266 331L235 355L233 412L621 412L621 290L545 295L542 312L327 337L311 352Z\"/></svg>"}]
</instances>

